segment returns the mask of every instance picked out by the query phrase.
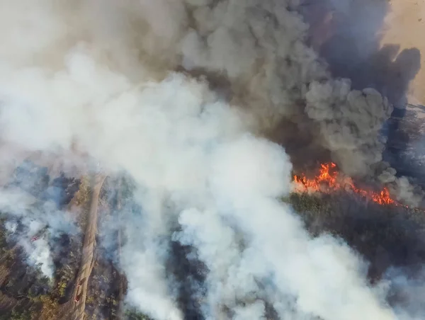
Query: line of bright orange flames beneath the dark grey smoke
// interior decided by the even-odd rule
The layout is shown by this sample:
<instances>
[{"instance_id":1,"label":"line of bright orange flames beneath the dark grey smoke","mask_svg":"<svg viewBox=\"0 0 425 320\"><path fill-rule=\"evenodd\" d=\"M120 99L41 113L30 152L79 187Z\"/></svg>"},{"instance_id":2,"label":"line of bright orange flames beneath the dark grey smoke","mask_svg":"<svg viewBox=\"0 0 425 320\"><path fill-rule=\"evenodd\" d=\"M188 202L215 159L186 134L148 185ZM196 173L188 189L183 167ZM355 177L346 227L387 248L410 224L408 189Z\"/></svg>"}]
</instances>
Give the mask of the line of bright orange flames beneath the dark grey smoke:
<instances>
[{"instance_id":1,"label":"line of bright orange flames beneath the dark grey smoke","mask_svg":"<svg viewBox=\"0 0 425 320\"><path fill-rule=\"evenodd\" d=\"M294 176L295 191L305 192L324 192L329 193L336 190L351 190L353 193L362 195L365 198L373 200L380 205L397 204L390 197L387 188L383 188L379 193L363 190L354 185L353 180L344 177L336 170L336 164L321 164L319 175L314 178L307 178L305 174Z\"/></svg>"}]
</instances>

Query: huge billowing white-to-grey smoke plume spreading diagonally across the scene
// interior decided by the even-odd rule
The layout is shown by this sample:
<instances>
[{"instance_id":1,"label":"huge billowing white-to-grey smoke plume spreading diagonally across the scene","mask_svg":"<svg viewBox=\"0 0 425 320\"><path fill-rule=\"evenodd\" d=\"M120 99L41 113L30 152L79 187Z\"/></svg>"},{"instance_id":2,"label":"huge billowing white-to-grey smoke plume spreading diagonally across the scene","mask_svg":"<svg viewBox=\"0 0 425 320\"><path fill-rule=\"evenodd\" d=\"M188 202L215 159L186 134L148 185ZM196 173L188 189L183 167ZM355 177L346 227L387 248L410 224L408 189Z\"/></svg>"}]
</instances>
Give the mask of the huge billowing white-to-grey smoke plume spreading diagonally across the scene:
<instances>
[{"instance_id":1,"label":"huge billowing white-to-grey smoke plume spreading diagonally across the scene","mask_svg":"<svg viewBox=\"0 0 425 320\"><path fill-rule=\"evenodd\" d=\"M205 319L397 319L361 258L280 202L293 165L264 137L282 120L365 176L391 113L378 91L331 79L297 2L0 1L0 132L16 146L1 161L72 152L131 177L121 265L128 302L154 319L187 317L172 241L203 265Z\"/></svg>"}]
</instances>

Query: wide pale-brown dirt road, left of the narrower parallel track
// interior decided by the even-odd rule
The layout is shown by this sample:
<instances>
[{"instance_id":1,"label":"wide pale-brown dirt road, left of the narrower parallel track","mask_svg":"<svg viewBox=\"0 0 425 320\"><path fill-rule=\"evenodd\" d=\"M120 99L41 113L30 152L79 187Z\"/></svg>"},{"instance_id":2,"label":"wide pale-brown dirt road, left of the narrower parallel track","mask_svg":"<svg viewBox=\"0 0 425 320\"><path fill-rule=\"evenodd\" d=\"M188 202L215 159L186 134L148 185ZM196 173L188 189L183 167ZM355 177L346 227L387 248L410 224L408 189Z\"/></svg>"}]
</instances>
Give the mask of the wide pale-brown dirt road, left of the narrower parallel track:
<instances>
[{"instance_id":1,"label":"wide pale-brown dirt road, left of the narrower parallel track","mask_svg":"<svg viewBox=\"0 0 425 320\"><path fill-rule=\"evenodd\" d=\"M103 181L106 175L97 174L94 177L93 195L89 217L84 236L83 252L81 254L81 266L75 282L74 293L72 295L72 312L74 320L84 319L84 310L86 309L87 285L91 270L93 269L95 250L96 250L96 229L98 220L98 202L101 194Z\"/></svg>"}]
</instances>

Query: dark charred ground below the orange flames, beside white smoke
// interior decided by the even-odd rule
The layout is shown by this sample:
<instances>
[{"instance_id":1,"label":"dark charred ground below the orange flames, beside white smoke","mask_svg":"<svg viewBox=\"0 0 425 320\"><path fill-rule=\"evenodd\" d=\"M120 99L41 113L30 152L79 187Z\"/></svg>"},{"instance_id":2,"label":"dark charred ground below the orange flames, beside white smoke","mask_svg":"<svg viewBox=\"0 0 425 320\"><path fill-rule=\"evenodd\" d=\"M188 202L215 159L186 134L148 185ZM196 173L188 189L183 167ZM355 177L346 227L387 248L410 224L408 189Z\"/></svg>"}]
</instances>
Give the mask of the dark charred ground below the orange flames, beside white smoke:
<instances>
[{"instance_id":1,"label":"dark charred ground below the orange flames, beside white smoke","mask_svg":"<svg viewBox=\"0 0 425 320\"><path fill-rule=\"evenodd\" d=\"M312 234L339 236L368 261L370 282L389 288L387 300L413 319L424 309L414 297L423 290L424 212L382 206L343 192L290 196Z\"/></svg>"}]
</instances>

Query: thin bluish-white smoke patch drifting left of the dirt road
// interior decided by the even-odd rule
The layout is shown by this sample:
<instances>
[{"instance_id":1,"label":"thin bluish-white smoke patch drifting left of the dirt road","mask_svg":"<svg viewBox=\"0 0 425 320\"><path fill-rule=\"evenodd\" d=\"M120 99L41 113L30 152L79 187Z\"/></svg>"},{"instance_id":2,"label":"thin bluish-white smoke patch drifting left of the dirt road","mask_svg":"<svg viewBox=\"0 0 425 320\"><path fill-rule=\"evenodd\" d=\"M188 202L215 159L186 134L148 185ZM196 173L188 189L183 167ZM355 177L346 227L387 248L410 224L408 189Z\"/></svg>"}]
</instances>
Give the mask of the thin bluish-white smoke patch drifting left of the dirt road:
<instances>
[{"instance_id":1,"label":"thin bluish-white smoke patch drifting left of the dirt road","mask_svg":"<svg viewBox=\"0 0 425 320\"><path fill-rule=\"evenodd\" d=\"M62 211L78 185L63 174L50 179L47 167L27 160L1 190L1 212L8 219L5 227L10 240L47 278L53 277L54 264L64 254L64 239L79 233L72 215Z\"/></svg>"}]
</instances>

